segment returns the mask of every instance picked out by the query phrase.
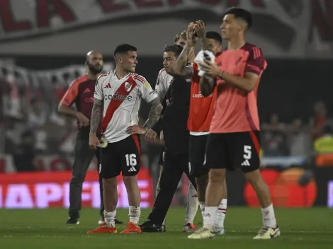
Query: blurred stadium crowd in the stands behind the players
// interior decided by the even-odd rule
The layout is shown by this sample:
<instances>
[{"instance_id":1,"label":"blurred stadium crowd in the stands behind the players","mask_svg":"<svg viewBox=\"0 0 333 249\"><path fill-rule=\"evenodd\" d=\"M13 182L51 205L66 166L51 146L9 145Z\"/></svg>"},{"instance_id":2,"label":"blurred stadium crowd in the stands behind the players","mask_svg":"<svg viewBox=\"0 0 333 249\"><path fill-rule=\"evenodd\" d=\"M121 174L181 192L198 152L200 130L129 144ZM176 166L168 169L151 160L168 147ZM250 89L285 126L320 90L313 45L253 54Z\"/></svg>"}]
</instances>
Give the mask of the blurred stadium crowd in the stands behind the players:
<instances>
[{"instance_id":1,"label":"blurred stadium crowd in the stands behind the players","mask_svg":"<svg viewBox=\"0 0 333 249\"><path fill-rule=\"evenodd\" d=\"M76 120L60 116L57 105L67 85L22 83L14 77L0 79L0 155L18 156L27 150L31 163L16 165L18 171L38 170L33 158L41 155L72 156L77 132ZM153 84L152 84L153 85ZM34 87L32 87L34 86ZM260 110L259 110L260 112ZM332 126L327 106L318 101L309 110L309 119L280 120L273 112L269 120L261 123L261 148L264 156L308 156L313 151L313 141L324 134L324 125ZM144 120L140 118L140 120ZM154 144L142 141L142 153L150 158L149 168L154 167L158 155ZM149 155L152 154L152 155ZM28 156L30 155L30 156ZM20 161L16 160L19 164ZM156 163L155 163L156 164Z\"/></svg>"}]
</instances>

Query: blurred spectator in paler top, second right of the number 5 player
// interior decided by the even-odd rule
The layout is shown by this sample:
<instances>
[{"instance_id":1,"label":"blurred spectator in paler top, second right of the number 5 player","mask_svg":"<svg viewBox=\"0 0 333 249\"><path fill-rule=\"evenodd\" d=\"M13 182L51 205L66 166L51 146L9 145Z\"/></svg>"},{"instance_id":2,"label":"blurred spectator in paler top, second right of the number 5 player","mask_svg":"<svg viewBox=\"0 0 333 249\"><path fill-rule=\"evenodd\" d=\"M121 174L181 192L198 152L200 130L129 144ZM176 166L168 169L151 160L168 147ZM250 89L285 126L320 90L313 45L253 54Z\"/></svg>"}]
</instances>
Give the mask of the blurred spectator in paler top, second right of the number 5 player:
<instances>
[{"instance_id":1,"label":"blurred spectator in paler top, second right of the number 5 player","mask_svg":"<svg viewBox=\"0 0 333 249\"><path fill-rule=\"evenodd\" d=\"M309 130L301 119L295 119L288 130L288 146L290 156L308 156L311 151Z\"/></svg>"}]
</instances>

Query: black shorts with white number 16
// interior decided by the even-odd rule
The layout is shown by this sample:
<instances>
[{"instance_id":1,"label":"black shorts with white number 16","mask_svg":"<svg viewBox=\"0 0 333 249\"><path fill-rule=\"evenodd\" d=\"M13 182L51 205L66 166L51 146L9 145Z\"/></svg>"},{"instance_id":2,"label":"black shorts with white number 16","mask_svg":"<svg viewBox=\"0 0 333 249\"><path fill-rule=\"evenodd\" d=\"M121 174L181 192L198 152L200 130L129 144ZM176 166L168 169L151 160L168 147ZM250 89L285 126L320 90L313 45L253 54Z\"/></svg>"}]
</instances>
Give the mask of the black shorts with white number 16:
<instances>
[{"instance_id":1,"label":"black shorts with white number 16","mask_svg":"<svg viewBox=\"0 0 333 249\"><path fill-rule=\"evenodd\" d=\"M120 175L137 175L140 171L140 139L137 134L126 137L115 143L108 143L105 149L101 149L101 178L108 179Z\"/></svg>"}]
</instances>

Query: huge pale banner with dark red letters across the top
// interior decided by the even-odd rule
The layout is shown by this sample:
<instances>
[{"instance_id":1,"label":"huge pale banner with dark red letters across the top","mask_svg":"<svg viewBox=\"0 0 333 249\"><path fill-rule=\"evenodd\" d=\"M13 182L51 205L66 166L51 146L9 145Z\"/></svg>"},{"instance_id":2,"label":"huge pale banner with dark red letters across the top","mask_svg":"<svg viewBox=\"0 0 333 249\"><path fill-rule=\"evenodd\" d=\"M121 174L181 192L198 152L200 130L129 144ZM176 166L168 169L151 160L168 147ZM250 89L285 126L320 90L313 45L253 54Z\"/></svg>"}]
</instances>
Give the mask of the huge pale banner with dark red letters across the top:
<instances>
[{"instance_id":1,"label":"huge pale banner with dark red letters across the top","mask_svg":"<svg viewBox=\"0 0 333 249\"><path fill-rule=\"evenodd\" d=\"M2 0L0 53L79 54L94 44L112 54L115 45L134 42L143 55L157 55L190 21L220 30L232 6L252 11L247 37L267 57L333 55L331 0ZM46 37L26 40L36 35Z\"/></svg>"}]
</instances>

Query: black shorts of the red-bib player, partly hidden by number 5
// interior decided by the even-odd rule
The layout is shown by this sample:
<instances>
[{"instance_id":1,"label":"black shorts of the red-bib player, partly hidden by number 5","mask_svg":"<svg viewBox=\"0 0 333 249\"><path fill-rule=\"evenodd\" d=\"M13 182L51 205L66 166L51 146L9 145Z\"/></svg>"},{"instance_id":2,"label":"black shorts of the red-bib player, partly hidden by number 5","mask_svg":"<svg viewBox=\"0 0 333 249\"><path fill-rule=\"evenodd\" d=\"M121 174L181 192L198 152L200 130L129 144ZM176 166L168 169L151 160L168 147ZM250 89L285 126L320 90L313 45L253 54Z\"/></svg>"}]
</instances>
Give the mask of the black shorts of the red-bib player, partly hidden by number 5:
<instances>
[{"instance_id":1,"label":"black shorts of the red-bib player, partly hidden by number 5","mask_svg":"<svg viewBox=\"0 0 333 249\"><path fill-rule=\"evenodd\" d=\"M196 178L208 173L205 166L205 148L207 144L208 134L201 136L190 136L188 166L190 174Z\"/></svg>"}]
</instances>

